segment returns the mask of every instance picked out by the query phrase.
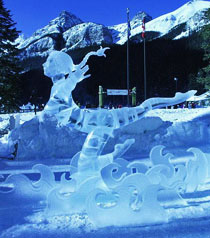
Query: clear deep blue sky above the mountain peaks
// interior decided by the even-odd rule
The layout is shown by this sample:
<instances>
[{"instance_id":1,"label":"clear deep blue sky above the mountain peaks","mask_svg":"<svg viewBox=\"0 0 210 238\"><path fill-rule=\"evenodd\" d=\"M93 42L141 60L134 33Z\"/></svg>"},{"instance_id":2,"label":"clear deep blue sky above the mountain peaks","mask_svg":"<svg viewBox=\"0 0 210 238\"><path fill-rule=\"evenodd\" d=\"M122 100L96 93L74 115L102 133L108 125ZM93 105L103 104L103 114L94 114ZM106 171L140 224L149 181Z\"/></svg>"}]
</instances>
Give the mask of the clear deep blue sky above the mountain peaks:
<instances>
[{"instance_id":1,"label":"clear deep blue sky above the mountain peaks","mask_svg":"<svg viewBox=\"0 0 210 238\"><path fill-rule=\"evenodd\" d=\"M11 10L17 29L29 37L34 31L44 27L56 18L62 10L67 10L83 21L106 26L126 22L126 8L130 18L145 11L153 18L174 11L187 0L4 0Z\"/></svg>"}]
</instances>

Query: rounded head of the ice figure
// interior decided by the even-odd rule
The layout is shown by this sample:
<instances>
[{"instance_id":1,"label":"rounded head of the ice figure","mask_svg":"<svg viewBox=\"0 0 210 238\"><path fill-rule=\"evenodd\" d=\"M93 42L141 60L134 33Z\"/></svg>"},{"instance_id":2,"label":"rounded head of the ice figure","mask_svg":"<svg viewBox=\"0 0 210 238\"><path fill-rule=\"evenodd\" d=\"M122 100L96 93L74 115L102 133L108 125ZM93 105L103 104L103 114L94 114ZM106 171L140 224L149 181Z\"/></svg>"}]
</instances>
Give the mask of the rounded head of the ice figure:
<instances>
[{"instance_id":1,"label":"rounded head of the ice figure","mask_svg":"<svg viewBox=\"0 0 210 238\"><path fill-rule=\"evenodd\" d=\"M72 58L61 51L52 51L43 64L44 74L50 78L70 74L75 66Z\"/></svg>"}]
</instances>

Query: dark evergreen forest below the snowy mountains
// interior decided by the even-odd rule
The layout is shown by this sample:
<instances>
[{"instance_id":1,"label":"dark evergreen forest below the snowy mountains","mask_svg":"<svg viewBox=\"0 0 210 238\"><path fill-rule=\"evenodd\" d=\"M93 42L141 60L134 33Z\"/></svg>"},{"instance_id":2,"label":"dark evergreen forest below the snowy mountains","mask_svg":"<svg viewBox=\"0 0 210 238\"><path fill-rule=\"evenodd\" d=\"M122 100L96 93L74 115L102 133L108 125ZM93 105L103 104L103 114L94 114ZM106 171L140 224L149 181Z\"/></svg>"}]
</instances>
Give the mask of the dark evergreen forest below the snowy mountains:
<instances>
[{"instance_id":1,"label":"dark evergreen forest below the snowy mountains","mask_svg":"<svg viewBox=\"0 0 210 238\"><path fill-rule=\"evenodd\" d=\"M210 11L206 13L210 19ZM179 29L180 30L180 29ZM19 67L21 59L14 44L19 32L11 18L10 11L0 0L0 109L1 111L18 110L18 106L31 102L41 105L48 101L52 82L44 76L41 66L25 73ZM210 89L210 25L201 31L192 32L189 37L179 40L158 38L146 41L147 96L173 96L177 90L184 92L197 89L203 93ZM104 90L126 88L125 45L111 45L106 51L107 57L92 56L89 61L91 77L81 82L73 92L75 101L98 105L98 87ZM68 52L75 63L84 55L97 50L98 46L77 49ZM27 59L44 62L46 59ZM25 61L22 61L24 68ZM130 88L137 88L137 101L144 97L143 43L130 42ZM108 101L113 98L107 98ZM123 99L120 99L123 100Z\"/></svg>"}]
</instances>

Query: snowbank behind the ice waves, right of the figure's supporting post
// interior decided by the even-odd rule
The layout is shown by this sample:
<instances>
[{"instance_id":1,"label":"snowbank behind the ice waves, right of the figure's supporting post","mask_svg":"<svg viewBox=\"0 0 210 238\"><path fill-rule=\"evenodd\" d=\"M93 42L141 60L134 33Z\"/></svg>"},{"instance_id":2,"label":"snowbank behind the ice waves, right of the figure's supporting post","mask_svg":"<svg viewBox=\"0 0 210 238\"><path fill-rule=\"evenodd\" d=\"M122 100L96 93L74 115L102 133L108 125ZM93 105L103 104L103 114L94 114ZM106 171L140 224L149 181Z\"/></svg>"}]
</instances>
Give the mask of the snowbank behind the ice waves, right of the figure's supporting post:
<instances>
[{"instance_id":1,"label":"snowbank behind the ice waves, right of the figure's supporting post","mask_svg":"<svg viewBox=\"0 0 210 238\"><path fill-rule=\"evenodd\" d=\"M123 129L116 130L115 138L105 149L111 150L111 144L122 143L134 138L135 144L127 152L128 157L138 154L147 157L155 145L164 145L175 155L189 147L210 151L210 109L157 109L148 112L142 120ZM176 148L176 149L175 149Z\"/></svg>"}]
</instances>

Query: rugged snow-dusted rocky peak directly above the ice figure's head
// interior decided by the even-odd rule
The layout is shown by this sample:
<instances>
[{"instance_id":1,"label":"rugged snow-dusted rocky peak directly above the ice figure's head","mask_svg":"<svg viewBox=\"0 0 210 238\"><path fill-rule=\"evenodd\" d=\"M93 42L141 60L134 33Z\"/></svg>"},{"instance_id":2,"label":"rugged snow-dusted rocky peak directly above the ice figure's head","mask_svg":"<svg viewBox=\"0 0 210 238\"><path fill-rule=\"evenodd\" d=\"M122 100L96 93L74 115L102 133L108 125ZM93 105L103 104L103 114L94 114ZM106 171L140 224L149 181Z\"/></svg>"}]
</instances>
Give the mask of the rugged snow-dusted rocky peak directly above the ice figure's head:
<instances>
[{"instance_id":1,"label":"rugged snow-dusted rocky peak directly above the ice figure's head","mask_svg":"<svg viewBox=\"0 0 210 238\"><path fill-rule=\"evenodd\" d=\"M19 43L21 57L30 58L46 57L52 50L69 51L103 43L112 44L113 40L107 27L92 22L84 23L75 15L63 11L47 26Z\"/></svg>"}]
</instances>

